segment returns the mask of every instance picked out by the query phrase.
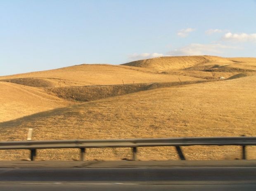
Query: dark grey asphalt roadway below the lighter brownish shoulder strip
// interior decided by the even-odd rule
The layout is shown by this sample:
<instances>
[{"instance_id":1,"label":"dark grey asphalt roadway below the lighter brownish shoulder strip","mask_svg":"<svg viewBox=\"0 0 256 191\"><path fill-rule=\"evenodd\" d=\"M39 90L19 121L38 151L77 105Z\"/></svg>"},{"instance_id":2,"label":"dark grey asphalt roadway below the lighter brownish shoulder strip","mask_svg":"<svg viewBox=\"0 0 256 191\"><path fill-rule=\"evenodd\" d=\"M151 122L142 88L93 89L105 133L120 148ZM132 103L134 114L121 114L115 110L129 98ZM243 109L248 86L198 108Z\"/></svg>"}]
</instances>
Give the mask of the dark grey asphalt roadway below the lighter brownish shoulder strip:
<instances>
[{"instance_id":1,"label":"dark grey asphalt roadway below the lighter brownish shoulder strip","mask_svg":"<svg viewBox=\"0 0 256 191\"><path fill-rule=\"evenodd\" d=\"M256 190L256 167L2 168L0 190Z\"/></svg>"}]
</instances>

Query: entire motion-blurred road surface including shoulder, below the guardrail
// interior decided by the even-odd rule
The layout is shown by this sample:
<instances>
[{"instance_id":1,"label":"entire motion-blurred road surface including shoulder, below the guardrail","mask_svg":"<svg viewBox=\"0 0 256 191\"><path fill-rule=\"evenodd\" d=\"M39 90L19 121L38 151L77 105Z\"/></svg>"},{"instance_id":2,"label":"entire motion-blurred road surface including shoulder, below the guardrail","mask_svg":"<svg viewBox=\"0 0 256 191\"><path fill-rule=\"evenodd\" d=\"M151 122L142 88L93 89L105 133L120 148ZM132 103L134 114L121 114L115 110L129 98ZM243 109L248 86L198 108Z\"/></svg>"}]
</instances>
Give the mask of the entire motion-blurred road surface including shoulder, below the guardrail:
<instances>
[{"instance_id":1,"label":"entire motion-blurred road surface including shoulder, below the guardrail","mask_svg":"<svg viewBox=\"0 0 256 191\"><path fill-rule=\"evenodd\" d=\"M0 191L255 191L256 161L0 161Z\"/></svg>"}]
</instances>

